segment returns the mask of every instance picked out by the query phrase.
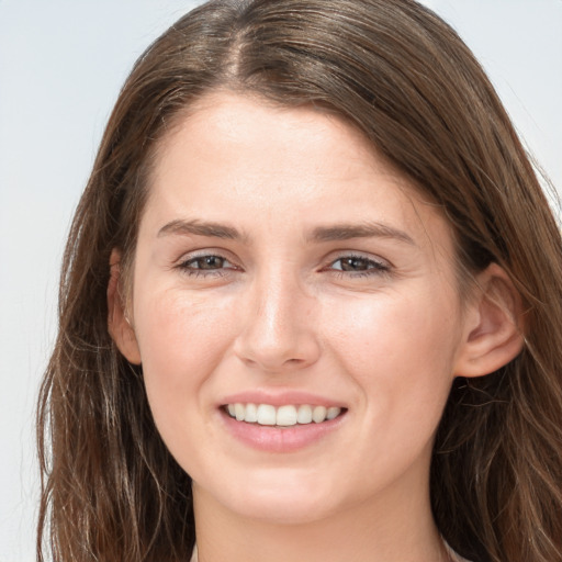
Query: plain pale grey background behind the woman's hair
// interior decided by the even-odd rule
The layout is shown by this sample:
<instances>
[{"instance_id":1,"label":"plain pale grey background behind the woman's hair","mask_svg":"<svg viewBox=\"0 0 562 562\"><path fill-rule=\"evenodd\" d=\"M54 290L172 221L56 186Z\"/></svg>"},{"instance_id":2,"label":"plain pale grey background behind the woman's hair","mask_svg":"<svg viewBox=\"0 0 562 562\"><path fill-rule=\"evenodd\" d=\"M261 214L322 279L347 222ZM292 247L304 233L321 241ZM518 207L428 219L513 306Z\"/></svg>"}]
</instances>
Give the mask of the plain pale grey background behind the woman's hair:
<instances>
[{"instance_id":1,"label":"plain pale grey background behind the woman's hair","mask_svg":"<svg viewBox=\"0 0 562 562\"><path fill-rule=\"evenodd\" d=\"M0 562L34 560L34 408L72 210L132 64L195 3L0 0ZM425 3L473 48L561 187L562 0Z\"/></svg>"}]
</instances>

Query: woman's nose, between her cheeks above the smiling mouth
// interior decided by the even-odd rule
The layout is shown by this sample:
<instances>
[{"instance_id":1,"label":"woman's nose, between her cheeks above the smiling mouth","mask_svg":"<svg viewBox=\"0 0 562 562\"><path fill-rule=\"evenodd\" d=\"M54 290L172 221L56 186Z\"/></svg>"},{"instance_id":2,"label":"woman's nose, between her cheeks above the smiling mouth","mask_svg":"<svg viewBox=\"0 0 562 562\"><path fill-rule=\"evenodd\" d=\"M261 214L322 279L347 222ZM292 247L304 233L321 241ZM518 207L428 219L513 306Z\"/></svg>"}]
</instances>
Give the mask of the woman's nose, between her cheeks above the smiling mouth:
<instances>
[{"instance_id":1,"label":"woman's nose, between her cheeks above the smiling mouth","mask_svg":"<svg viewBox=\"0 0 562 562\"><path fill-rule=\"evenodd\" d=\"M239 359L268 373L295 371L315 363L321 346L314 296L290 276L263 276L252 285L235 341Z\"/></svg>"}]
</instances>

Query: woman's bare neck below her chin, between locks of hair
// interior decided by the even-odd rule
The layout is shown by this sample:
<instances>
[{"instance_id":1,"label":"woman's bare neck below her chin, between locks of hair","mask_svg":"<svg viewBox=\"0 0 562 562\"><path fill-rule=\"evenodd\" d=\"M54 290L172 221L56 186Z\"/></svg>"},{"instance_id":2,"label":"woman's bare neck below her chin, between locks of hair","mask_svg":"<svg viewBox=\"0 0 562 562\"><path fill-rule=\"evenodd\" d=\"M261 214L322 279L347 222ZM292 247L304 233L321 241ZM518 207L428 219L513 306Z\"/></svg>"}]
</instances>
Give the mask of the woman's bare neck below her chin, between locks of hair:
<instances>
[{"instance_id":1,"label":"woman's bare neck below her chin, between locks of hair","mask_svg":"<svg viewBox=\"0 0 562 562\"><path fill-rule=\"evenodd\" d=\"M193 488L199 562L448 561L429 495L363 502L321 520L286 524L240 516ZM384 508L383 508L384 506Z\"/></svg>"}]
</instances>

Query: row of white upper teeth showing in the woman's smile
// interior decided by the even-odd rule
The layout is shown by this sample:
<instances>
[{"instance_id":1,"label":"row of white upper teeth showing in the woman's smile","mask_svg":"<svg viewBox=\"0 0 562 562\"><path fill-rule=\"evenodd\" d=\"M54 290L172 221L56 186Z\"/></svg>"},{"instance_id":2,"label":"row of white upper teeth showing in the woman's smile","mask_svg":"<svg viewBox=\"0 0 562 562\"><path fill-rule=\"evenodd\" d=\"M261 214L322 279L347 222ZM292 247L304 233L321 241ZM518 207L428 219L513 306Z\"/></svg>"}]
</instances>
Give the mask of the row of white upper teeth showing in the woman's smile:
<instances>
[{"instance_id":1,"label":"row of white upper teeth showing in the woman's smile","mask_svg":"<svg viewBox=\"0 0 562 562\"><path fill-rule=\"evenodd\" d=\"M238 422L281 427L295 426L296 424L305 425L312 422L322 424L338 417L341 413L341 408L336 406L311 406L308 404L301 404L300 406L288 404L276 408L270 404L236 403L228 404L226 409L228 415Z\"/></svg>"}]
</instances>

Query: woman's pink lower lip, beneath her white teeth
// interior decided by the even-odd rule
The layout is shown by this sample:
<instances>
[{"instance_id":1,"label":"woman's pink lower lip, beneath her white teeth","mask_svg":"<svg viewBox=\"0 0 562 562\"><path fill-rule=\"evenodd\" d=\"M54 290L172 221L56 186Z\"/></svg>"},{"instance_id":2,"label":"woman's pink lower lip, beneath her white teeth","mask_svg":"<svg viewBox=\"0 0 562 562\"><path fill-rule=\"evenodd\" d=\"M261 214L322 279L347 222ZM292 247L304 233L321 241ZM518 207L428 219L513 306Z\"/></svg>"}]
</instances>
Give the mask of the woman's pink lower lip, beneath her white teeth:
<instances>
[{"instance_id":1,"label":"woman's pink lower lip, beneath her white teeth","mask_svg":"<svg viewBox=\"0 0 562 562\"><path fill-rule=\"evenodd\" d=\"M231 435L254 449L268 452L290 452L308 447L335 431L346 417L344 413L321 424L278 427L238 422L226 412L222 409L220 412Z\"/></svg>"}]
</instances>

